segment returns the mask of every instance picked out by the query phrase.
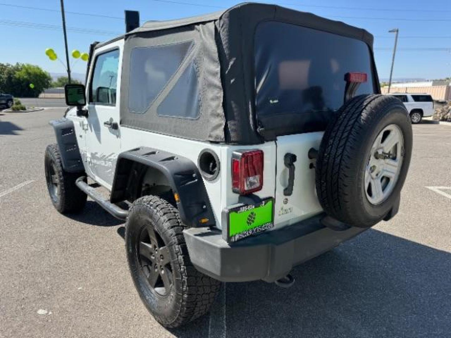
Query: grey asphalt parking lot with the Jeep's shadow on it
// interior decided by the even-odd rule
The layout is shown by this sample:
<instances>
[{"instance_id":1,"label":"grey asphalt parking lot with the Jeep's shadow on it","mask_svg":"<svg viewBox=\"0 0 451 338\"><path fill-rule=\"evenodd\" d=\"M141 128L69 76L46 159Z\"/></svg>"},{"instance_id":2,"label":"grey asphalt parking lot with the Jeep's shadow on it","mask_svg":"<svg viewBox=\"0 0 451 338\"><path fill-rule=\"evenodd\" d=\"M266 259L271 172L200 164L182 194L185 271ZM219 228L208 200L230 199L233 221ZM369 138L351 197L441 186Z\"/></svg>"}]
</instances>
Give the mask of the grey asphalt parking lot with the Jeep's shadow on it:
<instances>
[{"instance_id":1,"label":"grey asphalt parking lot with the Jeep's shadow on it","mask_svg":"<svg viewBox=\"0 0 451 338\"><path fill-rule=\"evenodd\" d=\"M63 112L0 111L0 337L451 337L451 126L414 126L395 219L297 267L292 288L228 283L211 315L167 330L134 290L124 224L51 205L47 122Z\"/></svg>"}]
</instances>

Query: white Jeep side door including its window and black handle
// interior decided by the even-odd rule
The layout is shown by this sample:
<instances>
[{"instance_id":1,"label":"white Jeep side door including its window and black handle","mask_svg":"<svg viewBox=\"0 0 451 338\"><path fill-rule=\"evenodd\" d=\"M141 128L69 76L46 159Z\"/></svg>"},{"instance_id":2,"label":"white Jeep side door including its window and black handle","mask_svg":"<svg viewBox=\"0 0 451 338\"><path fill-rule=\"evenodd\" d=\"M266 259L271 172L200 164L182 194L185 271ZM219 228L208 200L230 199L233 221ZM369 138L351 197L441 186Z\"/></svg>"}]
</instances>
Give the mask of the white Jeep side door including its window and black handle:
<instances>
[{"instance_id":1,"label":"white Jeep side door including its window and black handle","mask_svg":"<svg viewBox=\"0 0 451 338\"><path fill-rule=\"evenodd\" d=\"M120 77L124 40L95 51L87 88L88 174L111 188L120 151Z\"/></svg>"}]
</instances>

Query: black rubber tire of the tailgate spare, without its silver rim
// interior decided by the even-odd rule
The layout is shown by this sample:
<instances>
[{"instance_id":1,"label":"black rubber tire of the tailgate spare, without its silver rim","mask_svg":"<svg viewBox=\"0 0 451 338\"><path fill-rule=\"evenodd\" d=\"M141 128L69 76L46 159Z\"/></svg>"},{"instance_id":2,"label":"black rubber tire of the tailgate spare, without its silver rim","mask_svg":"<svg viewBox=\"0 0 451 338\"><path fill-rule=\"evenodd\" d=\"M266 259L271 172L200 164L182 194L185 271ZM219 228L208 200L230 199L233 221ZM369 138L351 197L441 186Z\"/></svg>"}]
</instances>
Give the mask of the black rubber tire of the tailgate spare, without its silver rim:
<instances>
[{"instance_id":1,"label":"black rubber tire of the tailgate spare, without its silver rim","mask_svg":"<svg viewBox=\"0 0 451 338\"><path fill-rule=\"evenodd\" d=\"M404 138L402 165L385 201L368 201L364 174L376 137L395 124ZM384 219L399 201L412 154L412 126L400 100L388 95L361 95L336 113L322 138L316 163L316 190L322 208L351 226L368 228Z\"/></svg>"}]
</instances>

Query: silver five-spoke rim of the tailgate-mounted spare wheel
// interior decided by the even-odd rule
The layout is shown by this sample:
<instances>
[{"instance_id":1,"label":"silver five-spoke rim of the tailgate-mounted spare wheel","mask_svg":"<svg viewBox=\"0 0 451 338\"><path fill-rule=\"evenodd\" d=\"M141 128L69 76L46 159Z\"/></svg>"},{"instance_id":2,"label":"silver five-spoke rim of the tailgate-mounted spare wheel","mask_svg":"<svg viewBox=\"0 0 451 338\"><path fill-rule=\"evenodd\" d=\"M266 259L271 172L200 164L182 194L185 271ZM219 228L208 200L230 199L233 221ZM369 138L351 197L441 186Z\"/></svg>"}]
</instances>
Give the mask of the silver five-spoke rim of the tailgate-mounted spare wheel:
<instances>
[{"instance_id":1,"label":"silver five-spoke rim of the tailgate-mounted spare wheel","mask_svg":"<svg viewBox=\"0 0 451 338\"><path fill-rule=\"evenodd\" d=\"M376 137L365 167L364 189L368 201L378 205L387 200L398 181L404 157L404 136L389 124Z\"/></svg>"}]
</instances>

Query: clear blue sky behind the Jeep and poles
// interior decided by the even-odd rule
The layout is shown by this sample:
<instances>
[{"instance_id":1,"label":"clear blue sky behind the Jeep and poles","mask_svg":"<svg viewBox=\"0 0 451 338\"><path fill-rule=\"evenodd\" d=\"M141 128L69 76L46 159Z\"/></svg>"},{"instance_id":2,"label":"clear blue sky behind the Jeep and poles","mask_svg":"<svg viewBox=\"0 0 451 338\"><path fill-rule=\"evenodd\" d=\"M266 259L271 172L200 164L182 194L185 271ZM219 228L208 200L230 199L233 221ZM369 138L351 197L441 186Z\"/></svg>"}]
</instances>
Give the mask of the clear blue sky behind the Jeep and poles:
<instances>
[{"instance_id":1,"label":"clear blue sky behind the Jeep and poles","mask_svg":"<svg viewBox=\"0 0 451 338\"><path fill-rule=\"evenodd\" d=\"M92 41L105 41L124 32L124 9L139 10L143 22L213 12L239 2L65 0L69 50L87 52ZM389 76L394 34L388 31L395 27L399 28L400 35L394 78L451 76L449 0L279 0L272 3L367 29L375 36L375 58L380 78ZM60 62L52 62L44 54L47 47L52 47L58 57L65 60L63 34L57 27L61 25L59 9L60 0L0 0L0 32L3 41L0 62L38 64L49 72L64 73ZM440 50L433 50L437 48ZM86 63L78 61L74 64L73 72L84 73L85 68Z\"/></svg>"}]
</instances>

